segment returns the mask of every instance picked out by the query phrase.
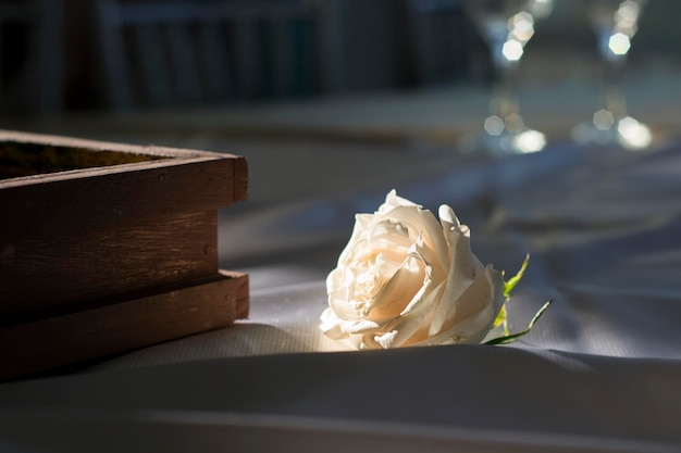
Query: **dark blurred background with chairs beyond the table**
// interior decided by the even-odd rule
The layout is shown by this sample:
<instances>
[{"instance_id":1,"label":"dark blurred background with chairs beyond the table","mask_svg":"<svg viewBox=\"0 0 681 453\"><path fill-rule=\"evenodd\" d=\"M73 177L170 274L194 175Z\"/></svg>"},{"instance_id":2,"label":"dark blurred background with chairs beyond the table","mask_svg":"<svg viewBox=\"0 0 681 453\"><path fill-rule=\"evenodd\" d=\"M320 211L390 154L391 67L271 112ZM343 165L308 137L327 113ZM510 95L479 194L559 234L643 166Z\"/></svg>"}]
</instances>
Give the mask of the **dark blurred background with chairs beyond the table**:
<instances>
[{"instance_id":1,"label":"dark blurred background with chairs beyond the table","mask_svg":"<svg viewBox=\"0 0 681 453\"><path fill-rule=\"evenodd\" d=\"M537 24L523 79L597 77L587 0ZM652 0L630 74L676 76L681 2ZM1 0L4 116L233 106L486 86L495 74L456 0Z\"/></svg>"}]
</instances>

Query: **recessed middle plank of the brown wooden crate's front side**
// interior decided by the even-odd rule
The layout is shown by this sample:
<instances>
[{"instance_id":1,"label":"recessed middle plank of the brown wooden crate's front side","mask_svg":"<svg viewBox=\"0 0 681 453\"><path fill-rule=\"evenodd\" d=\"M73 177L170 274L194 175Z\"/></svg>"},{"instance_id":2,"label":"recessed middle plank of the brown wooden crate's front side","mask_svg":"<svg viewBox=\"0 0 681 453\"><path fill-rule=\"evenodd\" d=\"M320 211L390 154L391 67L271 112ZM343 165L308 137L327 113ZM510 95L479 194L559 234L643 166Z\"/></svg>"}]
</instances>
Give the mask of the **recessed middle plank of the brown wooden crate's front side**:
<instances>
[{"instance_id":1,"label":"recessed middle plank of the brown wooden crate's front side","mask_svg":"<svg viewBox=\"0 0 681 453\"><path fill-rule=\"evenodd\" d=\"M103 224L75 235L54 234L45 222L26 229L0 244L0 326L218 272L215 211Z\"/></svg>"}]
</instances>

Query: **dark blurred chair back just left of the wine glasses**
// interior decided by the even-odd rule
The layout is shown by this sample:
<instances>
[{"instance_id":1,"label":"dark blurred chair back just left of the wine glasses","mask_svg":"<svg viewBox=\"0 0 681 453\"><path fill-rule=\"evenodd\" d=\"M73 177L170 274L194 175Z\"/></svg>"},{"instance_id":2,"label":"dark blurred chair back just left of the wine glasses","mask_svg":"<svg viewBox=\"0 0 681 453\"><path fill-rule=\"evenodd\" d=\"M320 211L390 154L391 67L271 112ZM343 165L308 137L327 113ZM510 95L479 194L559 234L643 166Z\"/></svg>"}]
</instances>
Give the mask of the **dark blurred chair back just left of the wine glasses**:
<instances>
[{"instance_id":1,"label":"dark blurred chair back just left of the wine glasses","mask_svg":"<svg viewBox=\"0 0 681 453\"><path fill-rule=\"evenodd\" d=\"M418 86L450 84L485 72L485 62L476 60L487 52L460 0L407 0L406 16Z\"/></svg>"}]
</instances>

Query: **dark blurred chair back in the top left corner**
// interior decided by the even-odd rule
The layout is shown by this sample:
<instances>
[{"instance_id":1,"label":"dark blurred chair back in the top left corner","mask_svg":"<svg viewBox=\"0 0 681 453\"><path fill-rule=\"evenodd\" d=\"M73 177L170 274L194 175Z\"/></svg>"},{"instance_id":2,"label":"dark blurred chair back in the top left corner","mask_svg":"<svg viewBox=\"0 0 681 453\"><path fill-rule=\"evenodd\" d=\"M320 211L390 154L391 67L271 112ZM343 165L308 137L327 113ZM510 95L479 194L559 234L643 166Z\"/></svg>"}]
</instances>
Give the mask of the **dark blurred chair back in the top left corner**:
<instances>
[{"instance_id":1,"label":"dark blurred chair back in the top left corner","mask_svg":"<svg viewBox=\"0 0 681 453\"><path fill-rule=\"evenodd\" d=\"M0 105L55 113L64 102L61 0L0 1Z\"/></svg>"}]
</instances>

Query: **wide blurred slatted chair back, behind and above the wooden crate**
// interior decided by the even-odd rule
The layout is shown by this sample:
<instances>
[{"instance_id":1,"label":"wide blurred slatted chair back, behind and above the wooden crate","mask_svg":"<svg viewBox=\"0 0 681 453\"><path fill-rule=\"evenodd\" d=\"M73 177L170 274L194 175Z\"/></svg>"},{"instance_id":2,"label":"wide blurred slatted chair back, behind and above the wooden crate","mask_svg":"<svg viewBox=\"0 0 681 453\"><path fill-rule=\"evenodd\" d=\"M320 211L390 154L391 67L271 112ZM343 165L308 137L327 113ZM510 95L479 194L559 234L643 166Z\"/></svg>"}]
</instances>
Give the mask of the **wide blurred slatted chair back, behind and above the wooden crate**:
<instances>
[{"instance_id":1,"label":"wide blurred slatted chair back, behind and above the wooden crate","mask_svg":"<svg viewBox=\"0 0 681 453\"><path fill-rule=\"evenodd\" d=\"M311 93L318 11L304 0L94 0L109 106Z\"/></svg>"}]
</instances>

